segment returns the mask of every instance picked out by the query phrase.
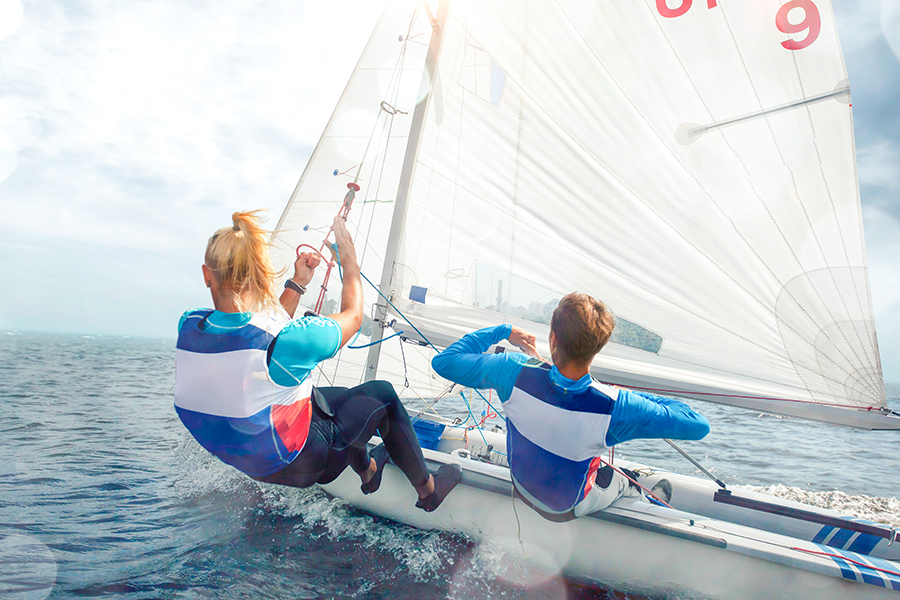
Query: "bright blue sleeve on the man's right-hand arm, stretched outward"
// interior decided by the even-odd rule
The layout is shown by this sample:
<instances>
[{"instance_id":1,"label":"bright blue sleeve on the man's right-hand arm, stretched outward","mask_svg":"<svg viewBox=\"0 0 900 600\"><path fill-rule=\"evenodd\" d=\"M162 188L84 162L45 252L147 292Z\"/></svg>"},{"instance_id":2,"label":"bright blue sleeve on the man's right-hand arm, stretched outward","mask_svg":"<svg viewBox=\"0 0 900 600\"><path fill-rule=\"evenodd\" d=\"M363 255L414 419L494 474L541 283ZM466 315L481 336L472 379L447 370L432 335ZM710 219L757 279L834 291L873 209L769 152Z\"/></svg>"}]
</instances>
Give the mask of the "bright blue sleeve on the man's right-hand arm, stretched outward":
<instances>
[{"instance_id":1,"label":"bright blue sleeve on the man's right-hand arm, stretched outward","mask_svg":"<svg viewBox=\"0 0 900 600\"><path fill-rule=\"evenodd\" d=\"M707 433L709 421L684 402L622 389L613 407L606 445L638 438L699 440Z\"/></svg>"}]
</instances>

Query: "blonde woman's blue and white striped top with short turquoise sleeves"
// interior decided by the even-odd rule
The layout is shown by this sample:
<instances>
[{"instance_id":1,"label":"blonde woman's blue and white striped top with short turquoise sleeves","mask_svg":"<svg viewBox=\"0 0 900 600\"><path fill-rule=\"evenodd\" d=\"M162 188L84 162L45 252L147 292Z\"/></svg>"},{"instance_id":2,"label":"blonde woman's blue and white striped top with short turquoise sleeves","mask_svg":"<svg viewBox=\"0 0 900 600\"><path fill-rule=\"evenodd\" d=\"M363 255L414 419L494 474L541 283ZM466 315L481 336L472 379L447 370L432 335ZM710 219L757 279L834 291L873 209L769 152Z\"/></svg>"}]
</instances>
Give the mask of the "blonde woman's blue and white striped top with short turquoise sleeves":
<instances>
[{"instance_id":1,"label":"blonde woman's blue and white striped top with short turquoise sleeves","mask_svg":"<svg viewBox=\"0 0 900 600\"><path fill-rule=\"evenodd\" d=\"M337 352L340 326L323 317L199 309L178 329L175 409L188 431L253 477L290 464L309 433L308 375Z\"/></svg>"}]
</instances>

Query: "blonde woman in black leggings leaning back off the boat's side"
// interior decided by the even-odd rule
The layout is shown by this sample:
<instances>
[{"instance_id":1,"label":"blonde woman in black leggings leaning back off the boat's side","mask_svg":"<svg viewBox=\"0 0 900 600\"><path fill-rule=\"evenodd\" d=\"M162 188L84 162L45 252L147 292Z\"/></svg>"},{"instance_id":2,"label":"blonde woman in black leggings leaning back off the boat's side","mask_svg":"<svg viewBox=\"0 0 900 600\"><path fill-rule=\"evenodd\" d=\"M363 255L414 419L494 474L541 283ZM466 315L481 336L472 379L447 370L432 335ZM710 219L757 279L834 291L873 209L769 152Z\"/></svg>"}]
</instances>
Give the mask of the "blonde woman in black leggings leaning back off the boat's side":
<instances>
[{"instance_id":1,"label":"blonde woman in black leggings leaning back off the boat's side","mask_svg":"<svg viewBox=\"0 0 900 600\"><path fill-rule=\"evenodd\" d=\"M381 483L388 456L435 510L459 482L459 467L434 476L393 387L314 389L310 373L359 330L363 293L353 240L334 220L343 268L341 310L294 319L319 257L303 253L280 297L259 211L232 215L206 246L203 279L214 309L186 312L178 326L175 409L196 440L226 464L267 483L307 487L334 480L349 465L361 489ZM376 431L383 444L369 455Z\"/></svg>"}]
</instances>

